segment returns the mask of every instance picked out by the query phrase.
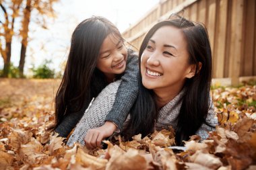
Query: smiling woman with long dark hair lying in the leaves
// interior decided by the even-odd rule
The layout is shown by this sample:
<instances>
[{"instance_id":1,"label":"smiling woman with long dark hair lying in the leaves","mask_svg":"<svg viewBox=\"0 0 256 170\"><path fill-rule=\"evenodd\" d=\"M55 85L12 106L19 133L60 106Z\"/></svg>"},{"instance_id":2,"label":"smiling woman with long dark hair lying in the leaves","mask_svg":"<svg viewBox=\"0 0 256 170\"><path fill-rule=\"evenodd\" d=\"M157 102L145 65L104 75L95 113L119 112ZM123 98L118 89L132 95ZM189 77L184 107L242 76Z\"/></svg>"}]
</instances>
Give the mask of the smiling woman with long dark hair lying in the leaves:
<instances>
[{"instance_id":1,"label":"smiling woman with long dark hair lying in the leaves","mask_svg":"<svg viewBox=\"0 0 256 170\"><path fill-rule=\"evenodd\" d=\"M193 134L207 138L207 131L214 130L218 121L210 99L212 54L206 29L179 15L156 24L141 44L139 65L139 94L125 122L123 136L146 136L154 128L172 126L178 145ZM83 120L73 136L83 136ZM70 138L69 144L75 141L83 142ZM86 138L90 148L98 143L95 138Z\"/></svg>"}]
</instances>

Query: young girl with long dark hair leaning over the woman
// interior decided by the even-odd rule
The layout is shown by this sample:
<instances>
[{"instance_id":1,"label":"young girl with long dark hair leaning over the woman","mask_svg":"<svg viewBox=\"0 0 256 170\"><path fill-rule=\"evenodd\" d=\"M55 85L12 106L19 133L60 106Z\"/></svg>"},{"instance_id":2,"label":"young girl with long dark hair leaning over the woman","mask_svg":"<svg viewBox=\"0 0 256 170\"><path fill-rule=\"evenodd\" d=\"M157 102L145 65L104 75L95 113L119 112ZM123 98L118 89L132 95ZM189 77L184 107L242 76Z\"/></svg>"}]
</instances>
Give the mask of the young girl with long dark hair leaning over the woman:
<instances>
[{"instance_id":1,"label":"young girl with long dark hair leaning over the woman","mask_svg":"<svg viewBox=\"0 0 256 170\"><path fill-rule=\"evenodd\" d=\"M85 19L75 28L67 65L55 98L55 132L60 136L67 137L93 97L117 79L122 79L122 83L113 109L100 118L102 124L88 128L102 126L100 132L96 129L102 139L115 130L122 130L137 97L139 70L137 55L132 50L127 51L123 43L119 30L104 17Z\"/></svg>"}]
</instances>

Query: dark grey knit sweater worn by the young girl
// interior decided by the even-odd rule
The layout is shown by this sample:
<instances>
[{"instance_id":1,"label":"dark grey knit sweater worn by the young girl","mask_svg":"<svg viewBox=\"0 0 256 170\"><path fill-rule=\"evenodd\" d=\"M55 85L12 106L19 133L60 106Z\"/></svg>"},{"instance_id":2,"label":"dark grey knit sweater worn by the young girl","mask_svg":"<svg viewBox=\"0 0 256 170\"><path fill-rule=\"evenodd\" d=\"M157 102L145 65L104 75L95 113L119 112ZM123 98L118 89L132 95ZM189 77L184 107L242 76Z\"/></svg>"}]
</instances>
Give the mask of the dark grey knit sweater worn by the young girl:
<instances>
[{"instance_id":1,"label":"dark grey knit sweater worn by the young girl","mask_svg":"<svg viewBox=\"0 0 256 170\"><path fill-rule=\"evenodd\" d=\"M139 89L137 86L139 75L138 56L137 53L133 50L127 50L127 66L121 77L122 83L118 87L117 91L115 91L115 93L117 93L117 99L113 100L113 110L108 110L108 112L106 112L107 114L104 116L104 121L113 122L117 125L119 130L122 130L123 128L123 122L125 121L129 110L131 110L131 106L137 97ZM75 107L75 105L72 105L72 107ZM79 110L79 112L66 114L61 123L55 128L55 132L59 133L59 136L67 137L84 115L86 108L88 108L88 105L84 105L83 108Z\"/></svg>"}]
</instances>

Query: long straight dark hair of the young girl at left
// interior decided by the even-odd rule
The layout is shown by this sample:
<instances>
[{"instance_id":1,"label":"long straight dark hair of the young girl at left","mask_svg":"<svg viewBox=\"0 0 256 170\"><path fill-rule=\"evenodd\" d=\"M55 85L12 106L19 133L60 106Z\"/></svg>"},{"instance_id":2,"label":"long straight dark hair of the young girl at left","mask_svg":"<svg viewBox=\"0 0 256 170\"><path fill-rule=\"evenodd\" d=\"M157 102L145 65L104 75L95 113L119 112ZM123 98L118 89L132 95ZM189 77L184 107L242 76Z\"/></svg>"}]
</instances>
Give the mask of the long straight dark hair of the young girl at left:
<instances>
[{"instance_id":1,"label":"long straight dark hair of the young girl at left","mask_svg":"<svg viewBox=\"0 0 256 170\"><path fill-rule=\"evenodd\" d=\"M63 79L55 97L55 127L65 115L88 108L92 97L107 85L96 64L100 47L109 34L123 40L117 27L104 17L90 17L75 28Z\"/></svg>"}]
</instances>

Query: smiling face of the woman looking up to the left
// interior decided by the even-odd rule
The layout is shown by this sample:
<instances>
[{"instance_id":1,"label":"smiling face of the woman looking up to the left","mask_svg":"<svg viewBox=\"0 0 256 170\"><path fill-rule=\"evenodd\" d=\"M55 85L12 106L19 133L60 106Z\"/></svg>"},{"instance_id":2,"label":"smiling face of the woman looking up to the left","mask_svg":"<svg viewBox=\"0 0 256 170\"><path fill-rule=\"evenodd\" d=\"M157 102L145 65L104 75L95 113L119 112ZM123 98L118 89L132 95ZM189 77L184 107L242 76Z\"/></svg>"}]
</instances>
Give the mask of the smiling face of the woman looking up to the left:
<instances>
[{"instance_id":1,"label":"smiling face of the woman looking up to the left","mask_svg":"<svg viewBox=\"0 0 256 170\"><path fill-rule=\"evenodd\" d=\"M185 36L173 26L159 28L141 55L143 86L154 91L179 93L191 68Z\"/></svg>"}]
</instances>

